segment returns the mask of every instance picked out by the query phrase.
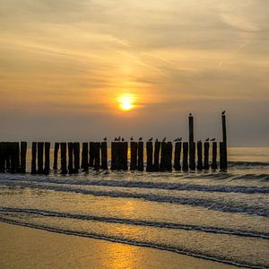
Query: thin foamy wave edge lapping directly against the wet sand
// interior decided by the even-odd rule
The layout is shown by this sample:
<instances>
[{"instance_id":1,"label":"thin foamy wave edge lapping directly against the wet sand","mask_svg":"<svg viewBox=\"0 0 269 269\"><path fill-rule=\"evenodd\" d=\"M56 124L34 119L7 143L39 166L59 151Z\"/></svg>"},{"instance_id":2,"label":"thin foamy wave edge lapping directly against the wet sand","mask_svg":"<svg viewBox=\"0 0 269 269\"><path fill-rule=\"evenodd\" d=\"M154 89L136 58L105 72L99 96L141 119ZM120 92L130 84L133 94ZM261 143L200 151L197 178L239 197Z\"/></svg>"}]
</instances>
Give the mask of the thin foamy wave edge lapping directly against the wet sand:
<instances>
[{"instance_id":1,"label":"thin foamy wave edge lapping directly against the wet sand","mask_svg":"<svg viewBox=\"0 0 269 269\"><path fill-rule=\"evenodd\" d=\"M39 230L48 230L50 232L62 233L65 235L80 236L80 237L92 238L92 239L104 239L104 240L108 240L111 242L117 242L117 243L122 243L122 244L127 244L127 245L134 245L134 246L138 246L138 247L158 248L161 250L176 252L178 254L184 254L187 256L204 258L204 259L212 260L215 262L221 262L221 263L228 264L228 265L236 265L236 266L240 266L240 267L256 268L256 269L265 268L263 265L253 265L253 264L244 263L241 261L228 260L228 259L225 259L222 256L218 256L218 255L216 255L216 256L204 255L202 252L190 251L189 249L185 249L184 247L181 247L181 248L172 247L172 246L169 246L166 244L161 244L161 243L143 242L143 241L138 241L138 240L134 240L134 239L124 239L124 238L117 237L117 236L102 235L102 234L98 234L98 233L94 233L94 232L90 233L90 232L77 231L77 230L65 230L65 229L49 227L46 225L27 223L27 222L23 222L23 221L13 221L13 220L3 218L3 217L0 217L0 221L15 224L15 225L21 225L21 226L25 226L25 227L29 227L29 228L39 229Z\"/></svg>"}]
</instances>

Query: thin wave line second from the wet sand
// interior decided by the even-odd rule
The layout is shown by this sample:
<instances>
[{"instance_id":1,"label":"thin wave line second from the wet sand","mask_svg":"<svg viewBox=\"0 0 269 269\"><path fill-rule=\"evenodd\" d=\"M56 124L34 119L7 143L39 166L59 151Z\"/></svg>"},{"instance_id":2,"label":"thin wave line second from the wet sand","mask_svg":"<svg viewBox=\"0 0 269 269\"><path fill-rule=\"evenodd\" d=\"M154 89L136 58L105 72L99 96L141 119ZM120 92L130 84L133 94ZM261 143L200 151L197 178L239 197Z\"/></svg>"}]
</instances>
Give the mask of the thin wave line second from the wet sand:
<instances>
[{"instance_id":1,"label":"thin wave line second from the wet sand","mask_svg":"<svg viewBox=\"0 0 269 269\"><path fill-rule=\"evenodd\" d=\"M108 223L119 223L127 225L139 225L139 226L152 226L156 228L167 228L167 229L179 229L179 230L198 230L203 232L209 232L214 234L229 234L233 236L248 237L248 238L259 238L259 239L269 239L269 233L261 233L258 231L249 230L230 230L217 227L209 226L197 226L197 225L187 225L163 221L145 221L145 220L134 220L125 218L114 218L114 217L104 217L104 216L92 216L74 213L59 213L47 210L39 209L29 209L29 208L12 208L12 207L0 207L0 213L27 213L41 215L44 217L56 217L65 219L75 219L82 221L102 221Z\"/></svg>"}]
</instances>

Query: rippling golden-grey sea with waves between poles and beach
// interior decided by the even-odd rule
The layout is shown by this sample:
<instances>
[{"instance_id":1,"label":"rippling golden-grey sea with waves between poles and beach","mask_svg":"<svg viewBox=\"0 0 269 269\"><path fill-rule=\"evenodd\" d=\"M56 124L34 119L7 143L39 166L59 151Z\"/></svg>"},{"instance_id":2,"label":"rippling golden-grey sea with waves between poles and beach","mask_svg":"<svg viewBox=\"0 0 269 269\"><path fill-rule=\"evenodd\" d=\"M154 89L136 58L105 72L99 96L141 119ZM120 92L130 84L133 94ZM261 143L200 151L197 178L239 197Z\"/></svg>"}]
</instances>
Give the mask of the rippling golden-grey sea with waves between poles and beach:
<instances>
[{"instance_id":1,"label":"rippling golden-grey sea with waves between poles and beach","mask_svg":"<svg viewBox=\"0 0 269 269\"><path fill-rule=\"evenodd\" d=\"M0 221L269 267L269 148L229 160L227 172L0 174Z\"/></svg>"}]
</instances>

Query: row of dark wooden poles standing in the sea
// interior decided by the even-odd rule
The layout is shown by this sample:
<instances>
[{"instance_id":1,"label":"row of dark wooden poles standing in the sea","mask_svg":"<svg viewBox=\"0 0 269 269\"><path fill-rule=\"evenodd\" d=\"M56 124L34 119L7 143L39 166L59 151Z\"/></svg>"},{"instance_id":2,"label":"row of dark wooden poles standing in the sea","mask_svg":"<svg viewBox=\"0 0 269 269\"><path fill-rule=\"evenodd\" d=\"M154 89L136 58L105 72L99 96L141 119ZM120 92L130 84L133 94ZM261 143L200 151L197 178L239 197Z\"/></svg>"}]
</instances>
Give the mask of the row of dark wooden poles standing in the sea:
<instances>
[{"instance_id":1,"label":"row of dark wooden poles standing in the sea","mask_svg":"<svg viewBox=\"0 0 269 269\"><path fill-rule=\"evenodd\" d=\"M219 143L219 168L227 169L227 138L226 119L222 115L222 142ZM111 143L112 170L144 170L144 143L143 141L130 143L130 165L128 165L127 142ZM189 142L146 142L147 171L176 170L202 170L218 169L218 143L212 143L212 161L209 161L210 143L194 142L194 117L189 116ZM60 150L61 173L74 174L80 169L88 171L93 169L108 169L108 144L82 143L55 143L53 169L58 169L58 152ZM174 152L174 153L173 153ZM0 172L25 173L26 172L27 143L0 143ZM68 159L67 159L68 155ZM182 155L182 161L181 161ZM80 158L82 157L82 161ZM68 162L67 162L68 161ZM33 142L31 144L31 173L48 174L50 171L50 143Z\"/></svg>"}]
</instances>

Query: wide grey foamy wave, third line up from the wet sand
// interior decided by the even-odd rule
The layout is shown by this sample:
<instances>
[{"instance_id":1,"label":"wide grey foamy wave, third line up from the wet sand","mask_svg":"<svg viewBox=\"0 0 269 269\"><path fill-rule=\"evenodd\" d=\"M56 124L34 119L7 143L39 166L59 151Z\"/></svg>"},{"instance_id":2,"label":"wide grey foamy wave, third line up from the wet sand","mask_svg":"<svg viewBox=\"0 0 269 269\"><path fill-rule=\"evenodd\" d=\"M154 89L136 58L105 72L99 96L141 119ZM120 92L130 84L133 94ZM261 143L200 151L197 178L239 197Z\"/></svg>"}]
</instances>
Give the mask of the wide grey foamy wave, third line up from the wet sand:
<instances>
[{"instance_id":1,"label":"wide grey foamy wave, third line up from the wet sand","mask_svg":"<svg viewBox=\"0 0 269 269\"><path fill-rule=\"evenodd\" d=\"M82 195L94 195L105 196L113 198L138 198L145 201L158 202L158 203L171 203L171 204L188 204L193 206L203 206L210 210L229 212L229 213L248 213L256 214L260 216L269 216L269 208L257 207L257 206L242 206L242 204L229 204L227 200L209 200L203 198L193 199L191 197L176 197L172 195L154 195L154 194L139 194L139 193L127 193L121 191L96 191L82 188L74 188L67 186L53 186L42 185L39 183L29 182L12 182L10 180L1 180L0 184L8 187L23 187L41 190L52 190L58 192L71 192Z\"/></svg>"}]
</instances>

